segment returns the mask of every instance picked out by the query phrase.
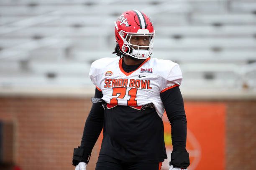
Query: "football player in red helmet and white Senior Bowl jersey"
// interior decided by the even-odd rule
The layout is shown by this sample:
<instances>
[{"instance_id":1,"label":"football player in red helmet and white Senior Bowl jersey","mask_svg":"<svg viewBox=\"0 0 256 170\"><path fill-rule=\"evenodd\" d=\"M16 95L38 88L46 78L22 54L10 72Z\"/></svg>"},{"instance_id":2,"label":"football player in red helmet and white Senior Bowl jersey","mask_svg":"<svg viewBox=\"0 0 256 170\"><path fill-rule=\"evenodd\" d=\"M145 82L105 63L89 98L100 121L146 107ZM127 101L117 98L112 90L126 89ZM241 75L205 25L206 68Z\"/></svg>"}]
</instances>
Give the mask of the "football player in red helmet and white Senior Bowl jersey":
<instances>
[{"instance_id":1,"label":"football player in red helmet and white Senior Bowl jersey","mask_svg":"<svg viewBox=\"0 0 256 170\"><path fill-rule=\"evenodd\" d=\"M186 169L187 119L179 85L182 72L170 60L151 58L154 27L138 10L125 11L115 22L119 57L92 63L96 86L81 146L74 148L75 170L85 170L103 127L96 170L160 170L167 158L162 116L172 126L170 170Z\"/></svg>"}]
</instances>

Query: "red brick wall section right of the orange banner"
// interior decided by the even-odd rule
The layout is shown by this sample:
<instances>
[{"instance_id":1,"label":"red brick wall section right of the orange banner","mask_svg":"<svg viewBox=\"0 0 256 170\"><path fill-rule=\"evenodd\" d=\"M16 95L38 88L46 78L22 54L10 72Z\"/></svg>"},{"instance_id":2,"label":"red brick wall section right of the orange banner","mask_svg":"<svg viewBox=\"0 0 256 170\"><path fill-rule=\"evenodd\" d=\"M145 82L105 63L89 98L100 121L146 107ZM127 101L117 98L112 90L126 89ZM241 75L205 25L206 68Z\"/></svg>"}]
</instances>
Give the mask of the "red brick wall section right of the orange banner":
<instances>
[{"instance_id":1,"label":"red brick wall section right of the orange banner","mask_svg":"<svg viewBox=\"0 0 256 170\"><path fill-rule=\"evenodd\" d=\"M256 101L227 102L226 169L256 167Z\"/></svg>"}]
</instances>

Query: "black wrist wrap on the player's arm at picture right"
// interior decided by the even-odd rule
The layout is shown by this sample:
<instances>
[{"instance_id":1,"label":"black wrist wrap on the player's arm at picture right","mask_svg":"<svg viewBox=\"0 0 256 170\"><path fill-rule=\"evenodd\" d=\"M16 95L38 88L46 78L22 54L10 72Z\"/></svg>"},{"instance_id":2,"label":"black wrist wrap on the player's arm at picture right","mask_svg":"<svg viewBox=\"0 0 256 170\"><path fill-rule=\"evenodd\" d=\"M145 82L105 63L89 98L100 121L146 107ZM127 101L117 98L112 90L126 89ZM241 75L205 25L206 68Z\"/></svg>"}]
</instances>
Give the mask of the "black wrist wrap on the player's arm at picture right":
<instances>
[{"instance_id":1,"label":"black wrist wrap on the player's arm at picture right","mask_svg":"<svg viewBox=\"0 0 256 170\"><path fill-rule=\"evenodd\" d=\"M171 153L171 162L174 168L184 168L189 166L189 153L187 151L174 151Z\"/></svg>"}]
</instances>

